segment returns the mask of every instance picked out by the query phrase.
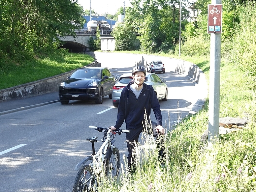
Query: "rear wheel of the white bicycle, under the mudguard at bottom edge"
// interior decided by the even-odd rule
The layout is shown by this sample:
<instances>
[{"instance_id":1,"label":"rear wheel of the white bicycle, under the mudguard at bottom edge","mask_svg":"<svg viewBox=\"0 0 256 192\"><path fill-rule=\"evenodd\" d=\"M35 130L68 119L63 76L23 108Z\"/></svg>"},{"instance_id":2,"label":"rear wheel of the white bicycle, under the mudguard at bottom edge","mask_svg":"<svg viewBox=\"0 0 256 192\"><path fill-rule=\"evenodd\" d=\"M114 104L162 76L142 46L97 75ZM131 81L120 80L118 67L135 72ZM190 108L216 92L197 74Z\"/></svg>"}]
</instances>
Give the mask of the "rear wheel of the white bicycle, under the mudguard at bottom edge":
<instances>
[{"instance_id":1,"label":"rear wheel of the white bicycle, under the mudguard at bottom edge","mask_svg":"<svg viewBox=\"0 0 256 192\"><path fill-rule=\"evenodd\" d=\"M76 174L72 192L92 192L94 180L93 168L90 165L84 165Z\"/></svg>"}]
</instances>

